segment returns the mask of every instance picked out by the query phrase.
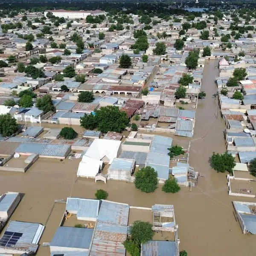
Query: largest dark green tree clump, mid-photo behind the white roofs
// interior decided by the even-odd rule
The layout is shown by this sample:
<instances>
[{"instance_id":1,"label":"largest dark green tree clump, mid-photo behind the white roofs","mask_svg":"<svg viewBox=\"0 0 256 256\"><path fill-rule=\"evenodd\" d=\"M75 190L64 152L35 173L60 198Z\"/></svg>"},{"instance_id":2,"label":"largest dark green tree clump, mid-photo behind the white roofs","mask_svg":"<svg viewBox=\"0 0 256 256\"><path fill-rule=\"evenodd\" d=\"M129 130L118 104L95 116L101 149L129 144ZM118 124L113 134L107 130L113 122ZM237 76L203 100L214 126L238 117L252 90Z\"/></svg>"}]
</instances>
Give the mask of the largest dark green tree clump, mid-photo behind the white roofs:
<instances>
[{"instance_id":1,"label":"largest dark green tree clump, mid-photo behind the white roofs","mask_svg":"<svg viewBox=\"0 0 256 256\"><path fill-rule=\"evenodd\" d=\"M80 124L85 129L93 130L97 128L104 133L108 131L121 132L128 126L129 118L118 107L106 106L90 113L90 115L81 117Z\"/></svg>"}]
</instances>

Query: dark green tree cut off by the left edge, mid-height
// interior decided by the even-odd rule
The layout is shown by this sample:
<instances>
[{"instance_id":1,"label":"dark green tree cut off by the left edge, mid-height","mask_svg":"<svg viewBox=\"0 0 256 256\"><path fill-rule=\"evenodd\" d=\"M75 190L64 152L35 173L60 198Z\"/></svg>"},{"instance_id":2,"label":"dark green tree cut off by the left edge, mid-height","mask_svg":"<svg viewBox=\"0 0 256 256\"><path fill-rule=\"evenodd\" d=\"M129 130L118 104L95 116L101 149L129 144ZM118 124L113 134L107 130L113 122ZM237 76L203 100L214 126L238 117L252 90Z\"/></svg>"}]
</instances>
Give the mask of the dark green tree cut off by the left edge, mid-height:
<instances>
[{"instance_id":1,"label":"dark green tree cut off by the left edge, mid-height","mask_svg":"<svg viewBox=\"0 0 256 256\"><path fill-rule=\"evenodd\" d=\"M0 115L0 134L9 137L18 129L17 122L9 113Z\"/></svg>"}]
</instances>

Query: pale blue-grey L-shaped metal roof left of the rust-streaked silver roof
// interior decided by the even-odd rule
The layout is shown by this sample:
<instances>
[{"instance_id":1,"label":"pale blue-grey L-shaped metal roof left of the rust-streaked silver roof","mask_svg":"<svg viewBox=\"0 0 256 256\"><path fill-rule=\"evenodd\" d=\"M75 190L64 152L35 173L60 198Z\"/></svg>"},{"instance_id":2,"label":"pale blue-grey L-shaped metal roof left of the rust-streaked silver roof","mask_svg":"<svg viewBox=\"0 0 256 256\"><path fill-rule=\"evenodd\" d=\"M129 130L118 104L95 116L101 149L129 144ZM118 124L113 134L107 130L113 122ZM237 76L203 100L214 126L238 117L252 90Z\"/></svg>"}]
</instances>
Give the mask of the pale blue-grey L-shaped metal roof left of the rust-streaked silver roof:
<instances>
[{"instance_id":1,"label":"pale blue-grey L-shaped metal roof left of the rust-streaked silver roof","mask_svg":"<svg viewBox=\"0 0 256 256\"><path fill-rule=\"evenodd\" d=\"M77 218L97 218L99 200L67 198L66 210L68 212L76 212Z\"/></svg>"}]
</instances>

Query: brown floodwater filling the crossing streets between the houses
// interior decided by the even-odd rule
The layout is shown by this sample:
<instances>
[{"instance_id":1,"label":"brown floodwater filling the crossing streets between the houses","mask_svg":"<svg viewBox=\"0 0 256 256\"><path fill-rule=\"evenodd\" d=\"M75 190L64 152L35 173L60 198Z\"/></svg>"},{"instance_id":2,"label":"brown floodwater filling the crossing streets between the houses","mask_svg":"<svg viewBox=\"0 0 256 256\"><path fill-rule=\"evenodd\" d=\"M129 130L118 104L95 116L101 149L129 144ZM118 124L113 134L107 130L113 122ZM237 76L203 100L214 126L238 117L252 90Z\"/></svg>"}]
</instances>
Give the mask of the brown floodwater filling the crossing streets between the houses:
<instances>
[{"instance_id":1,"label":"brown floodwater filling the crossing streets between the houses","mask_svg":"<svg viewBox=\"0 0 256 256\"><path fill-rule=\"evenodd\" d=\"M161 185L153 194L145 194L134 188L133 183L108 180L106 184L92 179L76 177L79 159L64 161L40 158L25 173L0 172L0 193L15 191L24 193L12 220L46 224L40 244L49 242L57 229L65 204L55 204L55 199L69 196L94 198L97 189L108 192L108 200L133 206L151 207L153 204L173 204L178 224L180 250L189 256L244 256L254 255L255 236L243 235L233 215L232 201L255 201L227 195L226 174L216 173L209 167L212 151L224 152L224 122L218 113L214 76L217 62L205 64L202 90L206 99L200 100L196 111L195 134L191 140L189 163L202 176L192 192L182 188L174 195L161 191ZM218 118L216 118L218 113ZM44 124L43 124L44 125ZM166 136L173 136L168 135ZM188 145L189 139L175 137L175 144ZM132 211L132 221L150 219L145 211ZM161 237L159 238L161 239ZM40 246L38 256L49 255L49 247Z\"/></svg>"}]
</instances>

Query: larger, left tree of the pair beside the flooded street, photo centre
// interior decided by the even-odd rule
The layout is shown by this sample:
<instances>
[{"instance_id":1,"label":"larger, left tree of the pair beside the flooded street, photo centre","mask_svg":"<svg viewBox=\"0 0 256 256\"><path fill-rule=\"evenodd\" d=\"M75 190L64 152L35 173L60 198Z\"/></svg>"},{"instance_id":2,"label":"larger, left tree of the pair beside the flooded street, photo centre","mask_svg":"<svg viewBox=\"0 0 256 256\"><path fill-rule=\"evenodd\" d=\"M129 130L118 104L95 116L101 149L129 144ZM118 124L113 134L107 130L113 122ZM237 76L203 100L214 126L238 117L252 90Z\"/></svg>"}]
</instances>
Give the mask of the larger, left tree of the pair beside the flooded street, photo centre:
<instances>
[{"instance_id":1,"label":"larger, left tree of the pair beside the flooded street, photo centre","mask_svg":"<svg viewBox=\"0 0 256 256\"><path fill-rule=\"evenodd\" d=\"M135 187L145 193L152 193L157 189L157 172L150 166L143 167L135 173Z\"/></svg>"}]
</instances>

